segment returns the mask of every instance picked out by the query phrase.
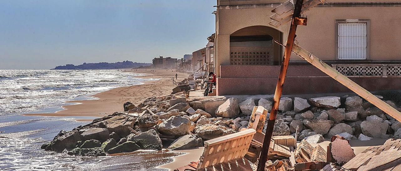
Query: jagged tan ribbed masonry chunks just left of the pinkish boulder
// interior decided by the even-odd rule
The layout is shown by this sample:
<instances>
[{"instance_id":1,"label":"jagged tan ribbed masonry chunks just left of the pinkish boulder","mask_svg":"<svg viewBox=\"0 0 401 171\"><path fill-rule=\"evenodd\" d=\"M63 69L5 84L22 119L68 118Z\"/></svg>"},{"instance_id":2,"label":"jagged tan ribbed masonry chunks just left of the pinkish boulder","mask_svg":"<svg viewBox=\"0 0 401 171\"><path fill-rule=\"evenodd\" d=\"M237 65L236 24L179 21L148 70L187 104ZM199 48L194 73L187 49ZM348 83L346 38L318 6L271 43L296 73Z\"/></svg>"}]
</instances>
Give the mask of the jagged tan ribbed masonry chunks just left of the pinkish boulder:
<instances>
[{"instance_id":1,"label":"jagged tan ribbed masonry chunks just left of the pinkish boulder","mask_svg":"<svg viewBox=\"0 0 401 171\"><path fill-rule=\"evenodd\" d=\"M327 162L326 151L318 145L317 147L312 147L310 143L306 140L302 140L298 145L294 153L295 161L298 163L305 163L311 161L317 162Z\"/></svg>"}]
</instances>

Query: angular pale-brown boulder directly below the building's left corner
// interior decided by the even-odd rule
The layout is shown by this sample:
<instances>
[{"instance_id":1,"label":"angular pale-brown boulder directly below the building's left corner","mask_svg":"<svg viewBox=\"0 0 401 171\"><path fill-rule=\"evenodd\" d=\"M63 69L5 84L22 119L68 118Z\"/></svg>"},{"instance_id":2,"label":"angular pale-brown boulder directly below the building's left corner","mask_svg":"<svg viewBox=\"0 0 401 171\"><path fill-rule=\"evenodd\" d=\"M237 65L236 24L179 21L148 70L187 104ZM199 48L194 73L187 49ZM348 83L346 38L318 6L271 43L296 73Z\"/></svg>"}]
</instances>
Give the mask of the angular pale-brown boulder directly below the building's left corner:
<instances>
[{"instance_id":1,"label":"angular pale-brown boulder directly below the building's left corner","mask_svg":"<svg viewBox=\"0 0 401 171\"><path fill-rule=\"evenodd\" d=\"M217 108L216 115L224 118L238 117L239 110L238 99L231 97Z\"/></svg>"}]
</instances>

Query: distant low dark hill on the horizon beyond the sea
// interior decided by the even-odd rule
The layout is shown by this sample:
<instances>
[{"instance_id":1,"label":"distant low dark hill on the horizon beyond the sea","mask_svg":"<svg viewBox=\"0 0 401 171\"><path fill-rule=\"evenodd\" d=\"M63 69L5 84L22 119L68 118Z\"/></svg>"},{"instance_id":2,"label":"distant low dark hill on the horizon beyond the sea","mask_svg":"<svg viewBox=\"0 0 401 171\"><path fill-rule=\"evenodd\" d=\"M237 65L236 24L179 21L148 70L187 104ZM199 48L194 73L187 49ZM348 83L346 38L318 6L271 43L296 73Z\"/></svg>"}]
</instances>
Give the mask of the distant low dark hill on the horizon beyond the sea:
<instances>
[{"instance_id":1,"label":"distant low dark hill on the horizon beyond the sea","mask_svg":"<svg viewBox=\"0 0 401 171\"><path fill-rule=\"evenodd\" d=\"M67 64L65 66L57 66L52 70L111 70L111 69L123 69L123 68L138 68L141 66L152 66L149 63L137 63L131 61L123 61L116 63L100 62L100 63L83 63L75 66L73 64Z\"/></svg>"}]
</instances>

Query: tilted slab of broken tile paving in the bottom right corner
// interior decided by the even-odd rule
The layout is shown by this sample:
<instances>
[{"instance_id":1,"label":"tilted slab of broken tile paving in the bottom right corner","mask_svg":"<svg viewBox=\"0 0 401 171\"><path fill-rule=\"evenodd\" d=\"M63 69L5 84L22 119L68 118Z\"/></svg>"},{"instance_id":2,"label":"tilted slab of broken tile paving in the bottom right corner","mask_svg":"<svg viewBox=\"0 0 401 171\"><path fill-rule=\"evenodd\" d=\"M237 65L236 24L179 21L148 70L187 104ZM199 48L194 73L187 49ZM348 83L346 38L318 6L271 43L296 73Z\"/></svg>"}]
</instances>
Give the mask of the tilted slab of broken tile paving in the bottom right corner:
<instances>
[{"instance_id":1,"label":"tilted slab of broken tile paving in the bottom right corner","mask_svg":"<svg viewBox=\"0 0 401 171\"><path fill-rule=\"evenodd\" d=\"M401 170L401 139L388 139L383 145L368 147L342 166L352 171Z\"/></svg>"}]
</instances>

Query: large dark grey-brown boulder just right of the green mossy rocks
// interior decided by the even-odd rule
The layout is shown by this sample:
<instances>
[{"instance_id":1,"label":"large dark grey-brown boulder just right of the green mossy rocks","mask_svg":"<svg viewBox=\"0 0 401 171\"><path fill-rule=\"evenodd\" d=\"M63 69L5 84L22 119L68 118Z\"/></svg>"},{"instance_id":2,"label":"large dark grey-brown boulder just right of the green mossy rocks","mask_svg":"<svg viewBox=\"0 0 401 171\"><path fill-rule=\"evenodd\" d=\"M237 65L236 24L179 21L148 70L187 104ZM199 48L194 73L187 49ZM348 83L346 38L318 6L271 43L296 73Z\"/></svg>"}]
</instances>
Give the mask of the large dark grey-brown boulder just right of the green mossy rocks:
<instances>
[{"instance_id":1,"label":"large dark grey-brown boulder just right of the green mossy rocks","mask_svg":"<svg viewBox=\"0 0 401 171\"><path fill-rule=\"evenodd\" d=\"M134 133L128 135L127 141L132 141L136 143L141 149L147 150L162 150L162 140L159 135L157 135L156 131L150 129L144 133L139 135L135 135Z\"/></svg>"}]
</instances>

